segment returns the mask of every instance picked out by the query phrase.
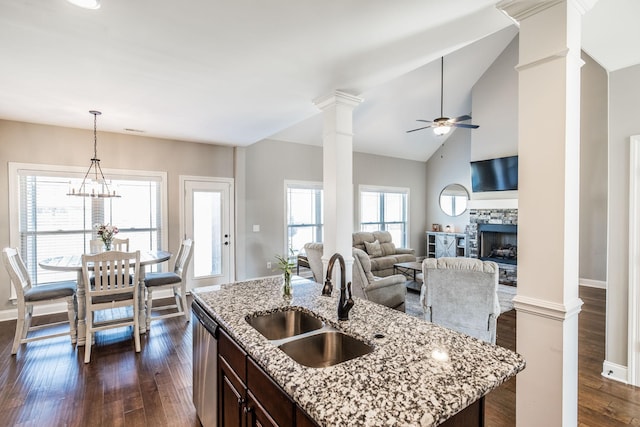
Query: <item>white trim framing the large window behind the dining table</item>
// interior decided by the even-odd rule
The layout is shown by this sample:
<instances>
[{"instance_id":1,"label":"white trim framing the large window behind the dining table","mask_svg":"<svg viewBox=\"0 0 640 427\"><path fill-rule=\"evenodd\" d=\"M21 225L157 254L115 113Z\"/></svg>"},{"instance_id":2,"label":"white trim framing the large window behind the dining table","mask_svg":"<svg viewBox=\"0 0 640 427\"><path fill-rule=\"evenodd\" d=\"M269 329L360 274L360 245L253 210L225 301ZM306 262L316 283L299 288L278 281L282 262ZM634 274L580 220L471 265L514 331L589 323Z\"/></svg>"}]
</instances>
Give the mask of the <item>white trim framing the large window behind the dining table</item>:
<instances>
[{"instance_id":1,"label":"white trim framing the large window behind the dining table","mask_svg":"<svg viewBox=\"0 0 640 427\"><path fill-rule=\"evenodd\" d=\"M127 180L139 179L140 177L153 178L160 182L160 210L161 210L161 227L160 239L163 245L167 245L169 241L167 217L168 200L167 200L167 172L164 171L145 171L145 170L127 170L127 169L102 169L107 179ZM87 167L82 166L61 166L47 165L35 163L18 163L9 162L8 164L8 182L9 182L9 244L12 247L20 246L20 175L48 175L48 176L64 176L70 179L82 179L87 172ZM69 196L71 197L71 196ZM12 300L15 300L15 289L11 286Z\"/></svg>"}]
</instances>

